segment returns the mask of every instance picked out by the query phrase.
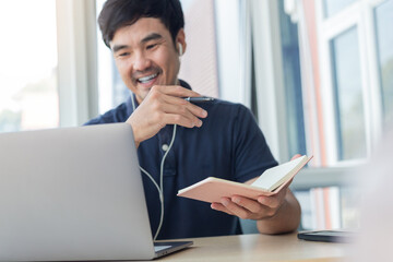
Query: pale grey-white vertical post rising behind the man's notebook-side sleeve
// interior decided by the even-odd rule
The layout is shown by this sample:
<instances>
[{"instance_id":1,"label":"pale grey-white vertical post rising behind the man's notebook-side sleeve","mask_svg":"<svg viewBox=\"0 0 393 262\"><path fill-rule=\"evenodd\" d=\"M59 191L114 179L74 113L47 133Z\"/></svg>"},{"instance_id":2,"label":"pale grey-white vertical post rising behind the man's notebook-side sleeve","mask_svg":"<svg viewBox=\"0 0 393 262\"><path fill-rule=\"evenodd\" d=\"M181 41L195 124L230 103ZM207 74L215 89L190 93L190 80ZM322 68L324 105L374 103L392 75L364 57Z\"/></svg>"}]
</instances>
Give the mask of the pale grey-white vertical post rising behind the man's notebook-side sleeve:
<instances>
[{"instance_id":1,"label":"pale grey-white vertical post rising behind the man's notebook-side sleeve","mask_svg":"<svg viewBox=\"0 0 393 262\"><path fill-rule=\"evenodd\" d=\"M272 154L289 160L278 1L252 0L252 38L259 126Z\"/></svg>"}]
</instances>

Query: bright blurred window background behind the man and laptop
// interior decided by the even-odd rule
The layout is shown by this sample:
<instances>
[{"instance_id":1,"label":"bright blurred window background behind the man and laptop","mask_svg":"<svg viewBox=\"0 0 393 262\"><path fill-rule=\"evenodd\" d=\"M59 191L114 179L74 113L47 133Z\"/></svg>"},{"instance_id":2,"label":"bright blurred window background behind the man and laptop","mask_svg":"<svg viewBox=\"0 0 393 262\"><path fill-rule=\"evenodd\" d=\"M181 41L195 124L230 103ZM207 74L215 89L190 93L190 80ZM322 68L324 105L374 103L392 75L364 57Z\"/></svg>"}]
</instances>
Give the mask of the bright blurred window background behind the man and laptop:
<instances>
[{"instance_id":1,"label":"bright blurred window background behind the man and laptop","mask_svg":"<svg viewBox=\"0 0 393 262\"><path fill-rule=\"evenodd\" d=\"M0 3L0 132L81 126L129 96L104 2ZM278 162L313 155L293 183L301 229L358 227L352 181L393 118L393 0L181 3L180 79L249 107Z\"/></svg>"}]
</instances>

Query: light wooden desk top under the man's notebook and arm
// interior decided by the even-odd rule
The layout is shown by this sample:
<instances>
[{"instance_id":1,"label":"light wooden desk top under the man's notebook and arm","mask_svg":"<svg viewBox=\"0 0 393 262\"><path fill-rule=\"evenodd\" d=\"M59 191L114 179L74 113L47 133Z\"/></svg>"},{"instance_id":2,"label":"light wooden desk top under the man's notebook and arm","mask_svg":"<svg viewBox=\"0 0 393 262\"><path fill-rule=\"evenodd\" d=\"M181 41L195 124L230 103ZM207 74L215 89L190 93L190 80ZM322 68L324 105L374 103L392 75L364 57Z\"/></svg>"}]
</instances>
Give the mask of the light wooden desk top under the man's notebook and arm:
<instances>
[{"instance_id":1,"label":"light wooden desk top under the man's notebook and arm","mask_svg":"<svg viewBox=\"0 0 393 262\"><path fill-rule=\"evenodd\" d=\"M297 239L296 234L194 238L187 250L158 261L345 261L348 243Z\"/></svg>"}]
</instances>

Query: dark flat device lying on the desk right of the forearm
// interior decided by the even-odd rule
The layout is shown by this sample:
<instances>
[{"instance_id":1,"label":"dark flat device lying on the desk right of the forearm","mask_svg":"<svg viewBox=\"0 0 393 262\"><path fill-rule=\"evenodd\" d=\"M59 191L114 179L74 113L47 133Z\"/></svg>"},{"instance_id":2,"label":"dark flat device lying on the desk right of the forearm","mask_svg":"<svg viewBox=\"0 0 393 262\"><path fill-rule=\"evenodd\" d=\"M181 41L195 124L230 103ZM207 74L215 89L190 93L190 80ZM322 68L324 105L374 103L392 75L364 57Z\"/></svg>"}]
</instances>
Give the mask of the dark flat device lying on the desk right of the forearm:
<instances>
[{"instance_id":1,"label":"dark flat device lying on the desk right of the forearm","mask_svg":"<svg viewBox=\"0 0 393 262\"><path fill-rule=\"evenodd\" d=\"M355 236L356 233L340 230L315 230L298 233L299 239L323 242L352 242Z\"/></svg>"}]
</instances>

